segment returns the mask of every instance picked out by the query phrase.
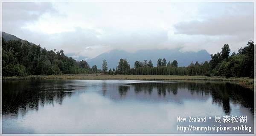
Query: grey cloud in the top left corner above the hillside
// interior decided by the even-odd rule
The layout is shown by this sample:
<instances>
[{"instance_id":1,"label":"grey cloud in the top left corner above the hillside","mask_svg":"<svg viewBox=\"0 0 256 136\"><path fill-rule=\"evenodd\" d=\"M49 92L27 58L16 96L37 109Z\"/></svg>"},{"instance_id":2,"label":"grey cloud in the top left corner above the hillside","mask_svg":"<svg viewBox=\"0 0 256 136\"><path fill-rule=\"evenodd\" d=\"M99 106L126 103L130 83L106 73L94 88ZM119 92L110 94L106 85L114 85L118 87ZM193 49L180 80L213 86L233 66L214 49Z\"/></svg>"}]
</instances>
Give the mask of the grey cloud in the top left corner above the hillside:
<instances>
[{"instance_id":1,"label":"grey cloud in the top left corner above the hillside","mask_svg":"<svg viewBox=\"0 0 256 136\"><path fill-rule=\"evenodd\" d=\"M55 14L57 11L52 3L19 3L3 2L3 31L16 33L28 22L38 20L43 14Z\"/></svg>"}]
</instances>

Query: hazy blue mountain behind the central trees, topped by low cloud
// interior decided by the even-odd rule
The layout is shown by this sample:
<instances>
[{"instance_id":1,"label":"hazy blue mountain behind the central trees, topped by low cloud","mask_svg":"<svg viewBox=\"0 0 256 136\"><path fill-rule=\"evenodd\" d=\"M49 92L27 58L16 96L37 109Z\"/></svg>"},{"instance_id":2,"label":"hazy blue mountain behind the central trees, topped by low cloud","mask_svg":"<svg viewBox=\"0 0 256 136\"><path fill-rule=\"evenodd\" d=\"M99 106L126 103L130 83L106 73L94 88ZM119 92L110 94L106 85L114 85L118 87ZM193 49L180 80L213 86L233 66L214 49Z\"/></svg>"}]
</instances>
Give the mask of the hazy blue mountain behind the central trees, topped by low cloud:
<instances>
[{"instance_id":1,"label":"hazy blue mountain behind the central trees, topped by low cloud","mask_svg":"<svg viewBox=\"0 0 256 136\"><path fill-rule=\"evenodd\" d=\"M190 65L191 62L198 61L199 63L209 61L211 59L210 54L206 50L201 51L187 51L181 52L179 48L175 49L152 49L152 50L140 50L134 53L129 53L123 50L112 50L99 56L88 60L90 66L97 65L98 68L102 67L103 59L106 59L108 62L108 68L116 68L120 58L126 58L131 65L131 68L134 67L135 61L143 61L144 59L151 59L154 66L157 65L157 59L166 58L167 63L173 60L177 60L178 66L187 66Z\"/></svg>"}]
</instances>

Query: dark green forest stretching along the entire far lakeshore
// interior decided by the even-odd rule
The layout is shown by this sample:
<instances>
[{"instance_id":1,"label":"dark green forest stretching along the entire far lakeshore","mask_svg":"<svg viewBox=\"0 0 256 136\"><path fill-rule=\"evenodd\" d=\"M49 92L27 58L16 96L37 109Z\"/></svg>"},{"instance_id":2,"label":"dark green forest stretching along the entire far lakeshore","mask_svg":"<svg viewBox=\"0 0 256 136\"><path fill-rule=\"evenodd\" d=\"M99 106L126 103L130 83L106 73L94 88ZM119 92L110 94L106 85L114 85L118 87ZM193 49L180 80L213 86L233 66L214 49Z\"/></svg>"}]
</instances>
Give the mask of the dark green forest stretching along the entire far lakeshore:
<instances>
[{"instance_id":1,"label":"dark green forest stretching along the entire far lakeshore","mask_svg":"<svg viewBox=\"0 0 256 136\"><path fill-rule=\"evenodd\" d=\"M2 39L3 77L52 74L133 74L133 75L203 75L223 77L253 78L254 42L249 41L238 52L230 54L229 45L225 44L220 52L211 54L211 60L191 62L186 67L179 67L178 62L159 58L154 67L151 60L134 62L131 67L128 60L121 58L116 68L108 69L104 59L102 68L90 67L85 60L76 61L67 57L63 50L47 51L40 45L32 45L20 40Z\"/></svg>"}]
</instances>

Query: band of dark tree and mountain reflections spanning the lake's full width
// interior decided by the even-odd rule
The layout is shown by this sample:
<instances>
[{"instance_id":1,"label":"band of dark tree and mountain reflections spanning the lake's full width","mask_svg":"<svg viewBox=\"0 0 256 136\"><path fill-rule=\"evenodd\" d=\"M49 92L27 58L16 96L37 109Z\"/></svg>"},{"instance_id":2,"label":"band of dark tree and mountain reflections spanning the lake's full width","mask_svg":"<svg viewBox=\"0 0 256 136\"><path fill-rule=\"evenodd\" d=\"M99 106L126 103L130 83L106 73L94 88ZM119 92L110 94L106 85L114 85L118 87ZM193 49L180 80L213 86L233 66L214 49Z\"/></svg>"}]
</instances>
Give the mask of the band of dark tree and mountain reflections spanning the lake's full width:
<instances>
[{"instance_id":1,"label":"band of dark tree and mountain reflections spanning the lake's full width","mask_svg":"<svg viewBox=\"0 0 256 136\"><path fill-rule=\"evenodd\" d=\"M78 90L97 91L100 88L103 96L129 99L136 95L151 96L148 99L156 102L161 99L201 99L205 96L212 98L212 103L221 105L225 114L231 112L230 102L249 108L253 113L253 91L239 85L227 82L179 82L179 83L127 83L87 85L84 82L65 80L25 80L3 82L3 114L24 115L28 110L38 110L38 105L62 104L66 97L72 97ZM129 93L128 93L129 91ZM132 93L134 92L134 93ZM143 92L143 94L141 94ZM155 92L155 93L154 93ZM168 93L167 93L168 92ZM128 97L129 96L129 97ZM170 97L172 96L172 98ZM119 99L116 97L115 99ZM144 99L142 99L144 100Z\"/></svg>"}]
</instances>

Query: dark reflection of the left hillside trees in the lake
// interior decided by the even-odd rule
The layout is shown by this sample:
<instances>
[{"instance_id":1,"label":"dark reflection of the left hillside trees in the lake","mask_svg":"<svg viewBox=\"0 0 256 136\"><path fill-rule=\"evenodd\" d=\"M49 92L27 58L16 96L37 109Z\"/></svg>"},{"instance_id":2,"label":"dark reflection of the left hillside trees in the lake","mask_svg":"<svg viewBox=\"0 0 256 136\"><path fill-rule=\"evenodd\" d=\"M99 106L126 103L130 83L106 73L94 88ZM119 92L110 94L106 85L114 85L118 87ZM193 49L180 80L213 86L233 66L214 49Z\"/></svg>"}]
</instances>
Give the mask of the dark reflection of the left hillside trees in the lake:
<instances>
[{"instance_id":1,"label":"dark reflection of the left hillside trees in the lake","mask_svg":"<svg viewBox=\"0 0 256 136\"><path fill-rule=\"evenodd\" d=\"M65 82L3 82L3 114L17 114L19 110L23 115L28 110L38 110L38 105L54 105L54 102L61 105L73 90Z\"/></svg>"}]
</instances>

